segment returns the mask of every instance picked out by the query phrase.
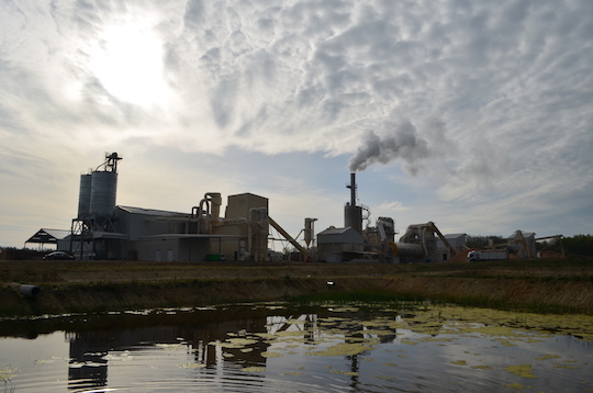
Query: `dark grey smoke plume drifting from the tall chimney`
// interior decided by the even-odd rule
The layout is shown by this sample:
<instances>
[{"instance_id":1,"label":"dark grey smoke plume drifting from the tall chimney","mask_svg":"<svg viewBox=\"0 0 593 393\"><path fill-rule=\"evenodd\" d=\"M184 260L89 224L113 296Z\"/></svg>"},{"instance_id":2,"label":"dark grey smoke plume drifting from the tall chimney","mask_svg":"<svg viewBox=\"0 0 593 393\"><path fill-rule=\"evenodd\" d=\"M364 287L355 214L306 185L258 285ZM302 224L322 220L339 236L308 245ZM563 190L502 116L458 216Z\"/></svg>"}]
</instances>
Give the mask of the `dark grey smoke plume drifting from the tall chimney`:
<instances>
[{"instance_id":1,"label":"dark grey smoke plume drifting from the tall chimney","mask_svg":"<svg viewBox=\"0 0 593 393\"><path fill-rule=\"evenodd\" d=\"M404 168L416 175L422 168L419 164L429 156L428 145L416 132L416 127L405 121L393 127L391 134L380 136L369 131L358 151L350 158L350 172L361 171L373 164L389 164L401 159Z\"/></svg>"}]
</instances>

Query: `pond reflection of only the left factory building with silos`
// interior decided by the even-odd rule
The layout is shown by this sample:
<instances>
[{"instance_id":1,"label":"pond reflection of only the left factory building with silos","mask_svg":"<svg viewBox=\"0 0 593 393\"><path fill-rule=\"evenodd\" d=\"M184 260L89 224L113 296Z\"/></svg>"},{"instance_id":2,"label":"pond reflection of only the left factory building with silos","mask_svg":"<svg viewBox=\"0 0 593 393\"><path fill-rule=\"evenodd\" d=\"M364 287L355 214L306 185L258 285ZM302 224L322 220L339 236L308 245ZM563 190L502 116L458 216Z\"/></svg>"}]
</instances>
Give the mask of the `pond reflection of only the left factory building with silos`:
<instances>
[{"instance_id":1,"label":"pond reflection of only the left factory building with silos","mask_svg":"<svg viewBox=\"0 0 593 393\"><path fill-rule=\"evenodd\" d=\"M242 367L248 367L266 362L261 352L266 351L268 345L264 339L249 344L247 346L249 351L221 346L221 343L228 338L230 332L250 332L254 327L261 326L261 333L266 333L266 316L216 321L220 314L215 314L211 322L204 322L204 318L192 314L183 315L179 312L179 315L111 315L109 318L112 319L113 329L68 334L69 389L107 386L110 364L132 361L139 355L149 358L148 351L180 351L187 353L187 362L203 364L204 368L221 372L227 369L225 363L240 363ZM133 318L136 318L136 324L138 318L147 318L150 322L128 329L118 328Z\"/></svg>"}]
</instances>

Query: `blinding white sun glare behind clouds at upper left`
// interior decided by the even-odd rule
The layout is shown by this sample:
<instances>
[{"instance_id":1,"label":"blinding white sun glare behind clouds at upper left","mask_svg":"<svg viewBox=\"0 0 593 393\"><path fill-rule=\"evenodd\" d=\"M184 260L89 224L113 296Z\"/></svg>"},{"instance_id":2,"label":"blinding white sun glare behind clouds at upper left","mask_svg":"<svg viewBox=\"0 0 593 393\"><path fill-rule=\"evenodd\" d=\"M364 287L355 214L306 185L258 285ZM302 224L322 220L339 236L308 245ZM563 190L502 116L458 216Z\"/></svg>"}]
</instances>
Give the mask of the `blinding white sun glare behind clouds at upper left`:
<instances>
[{"instance_id":1,"label":"blinding white sun glare behind clouds at upper left","mask_svg":"<svg viewBox=\"0 0 593 393\"><path fill-rule=\"evenodd\" d=\"M107 27L91 52L90 69L118 100L161 105L167 97L161 41L148 26Z\"/></svg>"}]
</instances>

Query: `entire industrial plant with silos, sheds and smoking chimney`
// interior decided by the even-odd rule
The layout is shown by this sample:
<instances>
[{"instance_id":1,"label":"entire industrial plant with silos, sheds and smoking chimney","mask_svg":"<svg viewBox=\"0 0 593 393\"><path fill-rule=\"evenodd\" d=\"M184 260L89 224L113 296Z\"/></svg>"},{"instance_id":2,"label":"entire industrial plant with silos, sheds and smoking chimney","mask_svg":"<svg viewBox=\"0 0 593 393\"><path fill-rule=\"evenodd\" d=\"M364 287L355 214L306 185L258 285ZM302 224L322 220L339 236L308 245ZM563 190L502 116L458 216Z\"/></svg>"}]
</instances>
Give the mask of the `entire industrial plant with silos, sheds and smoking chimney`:
<instances>
[{"instance_id":1,"label":"entire industrial plant with silos, sheds and smoking chimney","mask_svg":"<svg viewBox=\"0 0 593 393\"><path fill-rule=\"evenodd\" d=\"M120 160L118 153L105 154L101 165L80 176L78 214L69 231L40 229L26 243L56 244L79 260L259 262L271 260L273 228L292 246L283 255L292 260L398 263L444 261L468 252L466 234L444 235L433 222L410 225L399 242L393 218L378 217L371 226L369 209L357 202L356 173L346 186L350 201L344 226L331 226L315 238L316 218L305 218L300 243L272 220L268 199L253 193L228 195L224 214L219 192L206 192L188 212L116 205ZM505 246L529 257L535 240L535 234L517 231Z\"/></svg>"}]
</instances>

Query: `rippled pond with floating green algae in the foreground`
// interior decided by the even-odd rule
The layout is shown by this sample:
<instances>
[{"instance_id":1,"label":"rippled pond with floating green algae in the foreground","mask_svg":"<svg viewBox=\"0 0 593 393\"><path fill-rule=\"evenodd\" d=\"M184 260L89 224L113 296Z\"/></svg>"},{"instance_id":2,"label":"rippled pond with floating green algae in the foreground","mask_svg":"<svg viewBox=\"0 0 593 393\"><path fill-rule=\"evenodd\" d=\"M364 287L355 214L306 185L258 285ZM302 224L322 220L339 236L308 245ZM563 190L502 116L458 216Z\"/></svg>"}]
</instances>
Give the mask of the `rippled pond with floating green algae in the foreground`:
<instances>
[{"instance_id":1,"label":"rippled pond with floating green algae in the foreground","mask_svg":"<svg viewBox=\"0 0 593 393\"><path fill-rule=\"evenodd\" d=\"M0 392L586 392L592 351L593 316L428 303L46 315L0 319Z\"/></svg>"}]
</instances>

